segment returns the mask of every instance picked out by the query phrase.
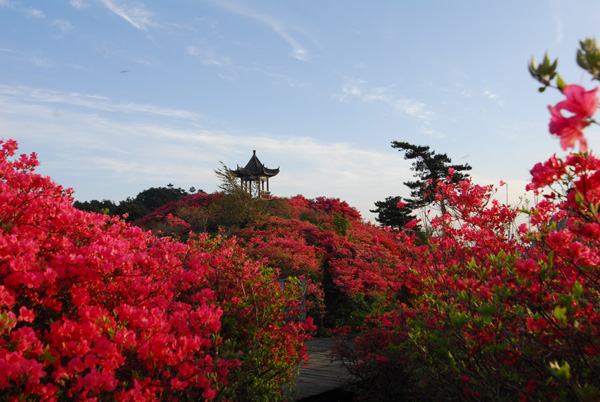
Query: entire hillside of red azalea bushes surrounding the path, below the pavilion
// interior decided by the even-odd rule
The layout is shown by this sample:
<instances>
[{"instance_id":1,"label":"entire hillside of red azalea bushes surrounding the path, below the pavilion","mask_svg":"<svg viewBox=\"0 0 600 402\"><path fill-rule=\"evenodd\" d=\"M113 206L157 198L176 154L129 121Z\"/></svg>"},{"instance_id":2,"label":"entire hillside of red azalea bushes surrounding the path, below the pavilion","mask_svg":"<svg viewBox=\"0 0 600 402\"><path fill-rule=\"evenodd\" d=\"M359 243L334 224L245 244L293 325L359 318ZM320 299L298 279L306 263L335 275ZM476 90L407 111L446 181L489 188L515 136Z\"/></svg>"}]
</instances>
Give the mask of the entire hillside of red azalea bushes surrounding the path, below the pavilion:
<instances>
[{"instance_id":1,"label":"entire hillside of red azalea bushes surrounding the path, below the pavilion","mask_svg":"<svg viewBox=\"0 0 600 402\"><path fill-rule=\"evenodd\" d=\"M253 197L226 171L223 191L129 223L75 208L1 141L0 401L283 400L330 334L363 400L600 400L598 88L548 56L529 69L564 96L549 131L579 152L537 163L521 210L448 169L401 230L339 199Z\"/></svg>"}]
</instances>

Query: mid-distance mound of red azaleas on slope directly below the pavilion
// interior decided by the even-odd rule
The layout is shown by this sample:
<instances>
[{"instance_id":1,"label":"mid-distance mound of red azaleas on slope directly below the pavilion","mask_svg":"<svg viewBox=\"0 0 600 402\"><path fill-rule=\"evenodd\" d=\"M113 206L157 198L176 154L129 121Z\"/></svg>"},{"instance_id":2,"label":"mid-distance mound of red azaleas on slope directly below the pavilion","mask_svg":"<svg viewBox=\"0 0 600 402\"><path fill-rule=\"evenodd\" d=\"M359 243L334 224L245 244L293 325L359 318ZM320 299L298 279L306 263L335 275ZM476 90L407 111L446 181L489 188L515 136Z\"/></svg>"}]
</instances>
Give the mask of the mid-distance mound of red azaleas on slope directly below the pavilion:
<instances>
[{"instance_id":1,"label":"mid-distance mound of red azaleas on slope directly below the pavilion","mask_svg":"<svg viewBox=\"0 0 600 402\"><path fill-rule=\"evenodd\" d=\"M345 203L301 196L273 201L270 213L279 216L266 216L237 235L251 256L265 259L282 278L312 280L313 313L325 314L323 326L362 321L382 307L382 294L410 283L397 269L403 257L393 232L361 221Z\"/></svg>"}]
</instances>

